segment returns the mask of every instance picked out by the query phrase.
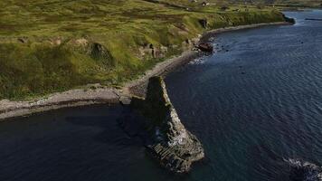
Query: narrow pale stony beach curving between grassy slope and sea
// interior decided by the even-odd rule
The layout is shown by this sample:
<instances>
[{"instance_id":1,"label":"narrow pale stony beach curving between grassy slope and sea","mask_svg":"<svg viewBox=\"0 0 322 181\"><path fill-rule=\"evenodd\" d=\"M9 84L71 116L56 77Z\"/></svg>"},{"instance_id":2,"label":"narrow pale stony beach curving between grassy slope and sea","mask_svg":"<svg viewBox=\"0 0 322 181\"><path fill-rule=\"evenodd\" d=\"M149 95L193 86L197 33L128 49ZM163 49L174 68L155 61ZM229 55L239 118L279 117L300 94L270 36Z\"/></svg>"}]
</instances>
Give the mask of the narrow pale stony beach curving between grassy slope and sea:
<instances>
[{"instance_id":1,"label":"narrow pale stony beach curving between grassy slope and sea","mask_svg":"<svg viewBox=\"0 0 322 181\"><path fill-rule=\"evenodd\" d=\"M200 38L200 43L207 42L210 37L218 33L226 33L237 30L251 29L268 25L287 25L287 22L249 24L219 28L208 31ZM147 81L152 76L165 76L166 73L193 61L195 58L204 55L203 52L185 51L181 55L158 62L151 70L134 81L128 81L121 90L97 86L94 89L74 89L64 92L52 93L48 97L35 100L11 101L0 100L0 121L17 117L30 116L34 113L48 110L59 110L62 108L88 106L94 104L127 104L133 96L144 96Z\"/></svg>"}]
</instances>

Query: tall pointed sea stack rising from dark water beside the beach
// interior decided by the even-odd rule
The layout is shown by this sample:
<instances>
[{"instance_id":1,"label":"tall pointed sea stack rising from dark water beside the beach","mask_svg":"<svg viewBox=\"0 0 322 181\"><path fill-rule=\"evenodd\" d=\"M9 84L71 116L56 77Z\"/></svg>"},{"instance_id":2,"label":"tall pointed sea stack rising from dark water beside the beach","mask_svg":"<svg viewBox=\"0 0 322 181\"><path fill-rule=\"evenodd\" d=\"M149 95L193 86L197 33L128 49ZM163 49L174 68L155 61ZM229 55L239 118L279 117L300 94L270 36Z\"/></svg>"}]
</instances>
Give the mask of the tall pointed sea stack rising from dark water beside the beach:
<instances>
[{"instance_id":1,"label":"tall pointed sea stack rising from dark water beside the beach","mask_svg":"<svg viewBox=\"0 0 322 181\"><path fill-rule=\"evenodd\" d=\"M178 118L161 77L150 78L146 99L134 98L131 106L147 118L146 128L154 139L147 148L162 166L185 173L194 161L204 157L202 144Z\"/></svg>"}]
</instances>

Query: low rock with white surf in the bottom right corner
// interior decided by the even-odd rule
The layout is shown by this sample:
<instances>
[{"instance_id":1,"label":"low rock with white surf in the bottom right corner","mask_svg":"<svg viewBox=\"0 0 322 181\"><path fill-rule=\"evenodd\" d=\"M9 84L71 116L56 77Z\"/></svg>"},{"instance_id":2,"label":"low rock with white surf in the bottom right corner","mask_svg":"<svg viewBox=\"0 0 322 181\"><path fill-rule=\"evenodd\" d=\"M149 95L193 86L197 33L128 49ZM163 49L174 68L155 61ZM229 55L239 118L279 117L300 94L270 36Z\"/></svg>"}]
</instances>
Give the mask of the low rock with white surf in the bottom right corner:
<instances>
[{"instance_id":1,"label":"low rock with white surf in the bottom right corner","mask_svg":"<svg viewBox=\"0 0 322 181\"><path fill-rule=\"evenodd\" d=\"M322 167L297 159L285 161L290 167L291 181L322 181Z\"/></svg>"}]
</instances>

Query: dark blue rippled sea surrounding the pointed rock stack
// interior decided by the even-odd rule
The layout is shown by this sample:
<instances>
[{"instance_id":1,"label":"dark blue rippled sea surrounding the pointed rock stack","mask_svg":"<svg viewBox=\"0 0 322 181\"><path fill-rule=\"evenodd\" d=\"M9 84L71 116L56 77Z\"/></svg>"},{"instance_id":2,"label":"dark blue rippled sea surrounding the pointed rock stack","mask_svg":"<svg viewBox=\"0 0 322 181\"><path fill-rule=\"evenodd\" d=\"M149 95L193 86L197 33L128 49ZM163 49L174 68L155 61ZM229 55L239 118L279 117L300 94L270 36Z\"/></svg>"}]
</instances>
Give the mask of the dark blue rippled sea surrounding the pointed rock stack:
<instances>
[{"instance_id":1,"label":"dark blue rippled sea surrounding the pointed rock stack","mask_svg":"<svg viewBox=\"0 0 322 181\"><path fill-rule=\"evenodd\" d=\"M223 33L219 52L166 78L206 158L174 176L118 125L120 106L0 123L0 180L289 180L283 158L322 165L322 11L292 26ZM223 46L223 47L222 47Z\"/></svg>"}]
</instances>

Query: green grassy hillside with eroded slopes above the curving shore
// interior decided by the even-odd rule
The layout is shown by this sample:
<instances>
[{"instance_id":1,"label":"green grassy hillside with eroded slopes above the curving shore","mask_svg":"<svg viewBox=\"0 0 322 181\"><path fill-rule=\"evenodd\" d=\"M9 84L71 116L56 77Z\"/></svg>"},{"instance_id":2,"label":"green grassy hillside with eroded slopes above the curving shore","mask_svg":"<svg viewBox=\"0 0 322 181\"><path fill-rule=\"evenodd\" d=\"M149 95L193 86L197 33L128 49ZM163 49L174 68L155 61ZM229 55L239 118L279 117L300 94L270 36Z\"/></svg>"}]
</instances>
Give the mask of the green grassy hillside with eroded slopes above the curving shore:
<instances>
[{"instance_id":1,"label":"green grassy hillside with eroded slopes above the curving shore","mask_svg":"<svg viewBox=\"0 0 322 181\"><path fill-rule=\"evenodd\" d=\"M118 86L207 30L284 21L271 7L173 2L0 1L0 100L88 83Z\"/></svg>"}]
</instances>

